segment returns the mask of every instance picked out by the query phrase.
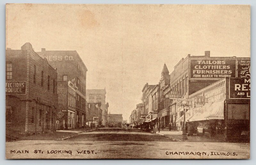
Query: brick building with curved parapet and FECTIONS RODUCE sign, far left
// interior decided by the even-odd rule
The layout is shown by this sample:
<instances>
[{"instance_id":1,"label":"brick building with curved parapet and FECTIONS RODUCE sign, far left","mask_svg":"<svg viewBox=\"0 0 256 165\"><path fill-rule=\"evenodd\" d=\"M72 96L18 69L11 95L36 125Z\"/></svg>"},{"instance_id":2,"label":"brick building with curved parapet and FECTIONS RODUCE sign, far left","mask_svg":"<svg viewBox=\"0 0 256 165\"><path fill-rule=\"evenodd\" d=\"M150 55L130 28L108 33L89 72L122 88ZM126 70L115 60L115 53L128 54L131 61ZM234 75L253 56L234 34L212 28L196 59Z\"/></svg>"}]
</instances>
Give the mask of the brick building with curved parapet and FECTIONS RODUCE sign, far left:
<instances>
[{"instance_id":1,"label":"brick building with curved parapet and FECTIONS RODUCE sign, far left","mask_svg":"<svg viewBox=\"0 0 256 165\"><path fill-rule=\"evenodd\" d=\"M55 130L57 69L30 43L6 50L6 134Z\"/></svg>"}]
</instances>

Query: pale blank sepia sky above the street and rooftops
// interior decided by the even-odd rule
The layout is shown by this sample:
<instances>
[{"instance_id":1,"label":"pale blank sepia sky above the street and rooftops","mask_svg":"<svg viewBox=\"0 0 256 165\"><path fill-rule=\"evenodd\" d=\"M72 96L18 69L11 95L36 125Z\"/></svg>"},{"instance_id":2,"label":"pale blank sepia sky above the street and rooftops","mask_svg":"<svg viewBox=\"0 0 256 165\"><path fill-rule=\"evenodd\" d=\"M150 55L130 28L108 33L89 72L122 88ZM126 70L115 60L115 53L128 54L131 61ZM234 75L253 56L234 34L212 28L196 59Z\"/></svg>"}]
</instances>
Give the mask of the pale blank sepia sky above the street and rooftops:
<instances>
[{"instance_id":1,"label":"pale blank sepia sky above the street and rooftops","mask_svg":"<svg viewBox=\"0 0 256 165\"><path fill-rule=\"evenodd\" d=\"M124 120L158 84L164 63L188 54L250 57L250 6L7 4L6 47L76 50L87 89L106 88L111 114Z\"/></svg>"}]
</instances>

